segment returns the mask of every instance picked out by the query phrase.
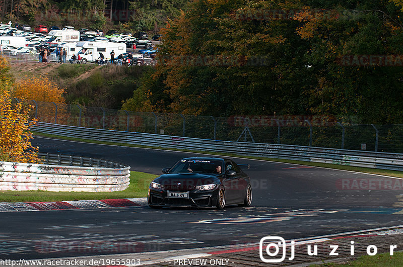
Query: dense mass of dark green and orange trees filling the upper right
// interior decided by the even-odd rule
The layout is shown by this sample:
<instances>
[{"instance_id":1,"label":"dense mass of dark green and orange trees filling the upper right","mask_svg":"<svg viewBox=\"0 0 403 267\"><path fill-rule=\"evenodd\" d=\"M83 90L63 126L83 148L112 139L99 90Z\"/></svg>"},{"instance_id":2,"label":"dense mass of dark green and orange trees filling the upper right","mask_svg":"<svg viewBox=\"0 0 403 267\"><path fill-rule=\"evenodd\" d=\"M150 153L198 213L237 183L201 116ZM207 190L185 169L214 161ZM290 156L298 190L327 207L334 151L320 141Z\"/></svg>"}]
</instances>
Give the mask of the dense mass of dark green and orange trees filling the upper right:
<instances>
[{"instance_id":1,"label":"dense mass of dark green and orange trees filling the upper right","mask_svg":"<svg viewBox=\"0 0 403 267\"><path fill-rule=\"evenodd\" d=\"M403 123L402 64L343 61L401 55L400 4L196 0L162 31L153 82L136 99L140 93L154 111L184 114ZM139 109L136 99L127 103Z\"/></svg>"}]
</instances>

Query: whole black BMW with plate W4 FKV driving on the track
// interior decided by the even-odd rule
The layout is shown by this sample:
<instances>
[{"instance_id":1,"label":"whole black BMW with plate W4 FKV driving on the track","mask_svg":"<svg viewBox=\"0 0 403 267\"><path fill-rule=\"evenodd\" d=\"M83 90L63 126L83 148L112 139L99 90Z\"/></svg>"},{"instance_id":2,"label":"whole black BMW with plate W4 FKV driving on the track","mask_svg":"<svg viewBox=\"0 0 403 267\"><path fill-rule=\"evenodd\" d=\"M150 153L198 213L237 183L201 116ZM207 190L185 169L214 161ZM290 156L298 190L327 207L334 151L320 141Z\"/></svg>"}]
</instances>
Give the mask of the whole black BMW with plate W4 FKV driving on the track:
<instances>
[{"instance_id":1,"label":"whole black BMW with plate W4 FKV driving on the track","mask_svg":"<svg viewBox=\"0 0 403 267\"><path fill-rule=\"evenodd\" d=\"M148 204L151 208L191 206L250 206L252 187L249 176L231 159L215 157L183 158L172 168L164 168L151 182Z\"/></svg>"}]
</instances>

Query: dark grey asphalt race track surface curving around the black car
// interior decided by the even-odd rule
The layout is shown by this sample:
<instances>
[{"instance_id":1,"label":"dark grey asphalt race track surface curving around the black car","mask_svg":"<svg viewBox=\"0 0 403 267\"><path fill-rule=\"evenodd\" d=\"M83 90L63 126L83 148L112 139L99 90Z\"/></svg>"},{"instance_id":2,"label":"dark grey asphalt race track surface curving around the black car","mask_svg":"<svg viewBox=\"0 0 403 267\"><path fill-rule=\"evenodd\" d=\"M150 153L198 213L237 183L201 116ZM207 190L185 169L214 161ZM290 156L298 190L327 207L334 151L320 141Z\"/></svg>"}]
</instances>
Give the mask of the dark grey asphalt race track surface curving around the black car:
<instances>
[{"instance_id":1,"label":"dark grey asphalt race track surface curving around the black car","mask_svg":"<svg viewBox=\"0 0 403 267\"><path fill-rule=\"evenodd\" d=\"M119 161L160 174L194 153L35 138L41 152ZM200 155L201 156L201 155ZM400 225L402 180L234 158L250 164L252 207L4 212L0 258L58 258L259 242ZM391 189L384 189L384 188Z\"/></svg>"}]
</instances>

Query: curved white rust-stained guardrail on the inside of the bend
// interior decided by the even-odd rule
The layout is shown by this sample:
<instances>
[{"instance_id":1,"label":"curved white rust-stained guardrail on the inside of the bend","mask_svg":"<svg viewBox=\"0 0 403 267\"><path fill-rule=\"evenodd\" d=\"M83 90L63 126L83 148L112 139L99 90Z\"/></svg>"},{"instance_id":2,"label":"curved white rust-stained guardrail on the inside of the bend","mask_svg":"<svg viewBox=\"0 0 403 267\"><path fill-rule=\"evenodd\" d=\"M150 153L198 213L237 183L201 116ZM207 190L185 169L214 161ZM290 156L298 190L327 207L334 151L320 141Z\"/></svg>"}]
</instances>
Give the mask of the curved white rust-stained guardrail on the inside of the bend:
<instances>
[{"instance_id":1,"label":"curved white rust-stained guardrail on the inside of the bend","mask_svg":"<svg viewBox=\"0 0 403 267\"><path fill-rule=\"evenodd\" d=\"M0 161L0 190L112 192L129 185L127 165L69 155L39 155L46 164Z\"/></svg>"}]
</instances>

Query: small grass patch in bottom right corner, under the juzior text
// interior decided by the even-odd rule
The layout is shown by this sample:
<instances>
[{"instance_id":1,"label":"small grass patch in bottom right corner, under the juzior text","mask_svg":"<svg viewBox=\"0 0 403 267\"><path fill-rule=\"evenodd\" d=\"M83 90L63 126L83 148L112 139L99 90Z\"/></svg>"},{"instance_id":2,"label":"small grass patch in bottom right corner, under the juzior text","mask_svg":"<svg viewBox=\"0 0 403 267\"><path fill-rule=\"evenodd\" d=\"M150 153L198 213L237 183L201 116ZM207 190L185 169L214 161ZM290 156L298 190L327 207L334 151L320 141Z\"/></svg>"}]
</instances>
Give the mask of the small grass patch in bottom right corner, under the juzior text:
<instances>
[{"instance_id":1,"label":"small grass patch in bottom right corner, under the juzior text","mask_svg":"<svg viewBox=\"0 0 403 267\"><path fill-rule=\"evenodd\" d=\"M364 255L347 263L325 263L312 266L331 266L331 267L377 267L377 266L401 266L403 262L403 252L395 252L393 256L389 253L376 254L374 256Z\"/></svg>"}]
</instances>

